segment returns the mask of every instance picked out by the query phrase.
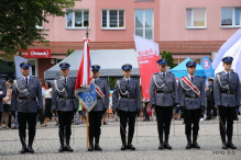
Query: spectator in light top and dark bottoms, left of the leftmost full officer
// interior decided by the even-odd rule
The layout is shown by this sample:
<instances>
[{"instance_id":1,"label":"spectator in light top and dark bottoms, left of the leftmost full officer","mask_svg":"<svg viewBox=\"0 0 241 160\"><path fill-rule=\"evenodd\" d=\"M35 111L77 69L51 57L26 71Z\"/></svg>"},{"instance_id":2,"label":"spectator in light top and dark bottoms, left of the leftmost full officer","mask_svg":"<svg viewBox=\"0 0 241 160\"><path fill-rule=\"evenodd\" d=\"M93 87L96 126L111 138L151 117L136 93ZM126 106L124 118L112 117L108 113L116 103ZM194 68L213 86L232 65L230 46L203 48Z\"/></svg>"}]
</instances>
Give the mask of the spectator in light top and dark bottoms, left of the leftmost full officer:
<instances>
[{"instance_id":1,"label":"spectator in light top and dark bottoms, left of the leftmost full officer","mask_svg":"<svg viewBox=\"0 0 241 160\"><path fill-rule=\"evenodd\" d=\"M12 98L12 89L9 88L10 87L9 82L6 82L6 84L7 84L7 95L2 101L3 101L3 112L6 114L6 128L9 129L8 124L9 124L9 113L11 110L10 104L11 104L11 98ZM2 119L1 119L1 125L2 125Z\"/></svg>"}]
</instances>

